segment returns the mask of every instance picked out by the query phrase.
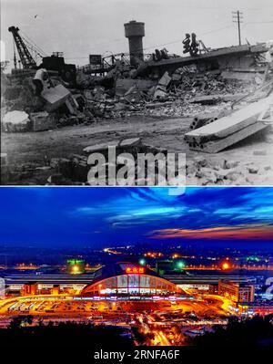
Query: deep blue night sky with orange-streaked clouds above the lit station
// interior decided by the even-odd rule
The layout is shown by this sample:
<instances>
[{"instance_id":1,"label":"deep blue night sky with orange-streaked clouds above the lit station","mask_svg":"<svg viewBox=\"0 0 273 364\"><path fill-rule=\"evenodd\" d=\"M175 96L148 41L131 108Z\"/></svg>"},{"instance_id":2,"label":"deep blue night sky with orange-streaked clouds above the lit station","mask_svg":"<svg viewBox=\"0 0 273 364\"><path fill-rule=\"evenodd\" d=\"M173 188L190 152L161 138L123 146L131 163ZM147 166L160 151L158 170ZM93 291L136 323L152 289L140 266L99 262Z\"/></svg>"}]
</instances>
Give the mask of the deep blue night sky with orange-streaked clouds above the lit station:
<instances>
[{"instance_id":1,"label":"deep blue night sky with orange-streaked clouds above the lit station","mask_svg":"<svg viewBox=\"0 0 273 364\"><path fill-rule=\"evenodd\" d=\"M169 191L2 188L0 244L102 247L191 242L269 247L272 243L272 188L187 188L179 195Z\"/></svg>"}]
</instances>

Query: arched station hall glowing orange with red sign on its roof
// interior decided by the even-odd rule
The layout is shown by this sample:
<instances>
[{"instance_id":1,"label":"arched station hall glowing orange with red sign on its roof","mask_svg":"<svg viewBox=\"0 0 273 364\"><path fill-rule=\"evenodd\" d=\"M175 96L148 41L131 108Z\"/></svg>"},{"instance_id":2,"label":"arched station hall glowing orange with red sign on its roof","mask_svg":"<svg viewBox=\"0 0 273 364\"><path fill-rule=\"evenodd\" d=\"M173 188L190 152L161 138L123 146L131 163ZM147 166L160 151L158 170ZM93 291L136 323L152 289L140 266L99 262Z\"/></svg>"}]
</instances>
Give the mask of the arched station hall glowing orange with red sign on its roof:
<instances>
[{"instance_id":1,"label":"arched station hall glowing orange with red sign on its roof","mask_svg":"<svg viewBox=\"0 0 273 364\"><path fill-rule=\"evenodd\" d=\"M106 266L81 295L167 295L177 293L177 286L148 269L131 263Z\"/></svg>"}]
</instances>

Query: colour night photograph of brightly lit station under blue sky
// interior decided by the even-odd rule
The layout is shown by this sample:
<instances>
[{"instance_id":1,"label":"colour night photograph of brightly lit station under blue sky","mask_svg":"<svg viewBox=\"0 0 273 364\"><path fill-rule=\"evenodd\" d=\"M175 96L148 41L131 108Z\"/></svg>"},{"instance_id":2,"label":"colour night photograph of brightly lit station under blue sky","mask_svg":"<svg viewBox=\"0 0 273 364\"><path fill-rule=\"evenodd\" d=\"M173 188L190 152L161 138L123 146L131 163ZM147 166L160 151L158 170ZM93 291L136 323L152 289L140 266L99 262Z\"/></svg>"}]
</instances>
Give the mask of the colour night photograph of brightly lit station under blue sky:
<instances>
[{"instance_id":1,"label":"colour night photograph of brightly lit station under blue sky","mask_svg":"<svg viewBox=\"0 0 273 364\"><path fill-rule=\"evenodd\" d=\"M273 347L273 189L9 187L0 199L2 343Z\"/></svg>"}]
</instances>

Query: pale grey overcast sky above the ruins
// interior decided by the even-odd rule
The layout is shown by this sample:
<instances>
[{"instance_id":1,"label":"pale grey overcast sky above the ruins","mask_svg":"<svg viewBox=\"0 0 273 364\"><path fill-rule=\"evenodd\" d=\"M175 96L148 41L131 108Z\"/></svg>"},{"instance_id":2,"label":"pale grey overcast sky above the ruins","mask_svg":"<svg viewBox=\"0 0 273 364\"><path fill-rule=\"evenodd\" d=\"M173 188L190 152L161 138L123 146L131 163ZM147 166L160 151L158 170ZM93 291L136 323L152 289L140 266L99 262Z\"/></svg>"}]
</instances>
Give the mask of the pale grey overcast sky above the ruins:
<instances>
[{"instance_id":1,"label":"pale grey overcast sky above the ruins","mask_svg":"<svg viewBox=\"0 0 273 364\"><path fill-rule=\"evenodd\" d=\"M207 47L237 45L234 10L244 14L244 41L273 37L272 0L1 0L1 60L13 58L7 31L13 25L46 54L63 51L76 65L85 65L91 53L127 52L123 25L132 19L146 23L147 53L166 45L181 54L186 32L197 33Z\"/></svg>"}]
</instances>

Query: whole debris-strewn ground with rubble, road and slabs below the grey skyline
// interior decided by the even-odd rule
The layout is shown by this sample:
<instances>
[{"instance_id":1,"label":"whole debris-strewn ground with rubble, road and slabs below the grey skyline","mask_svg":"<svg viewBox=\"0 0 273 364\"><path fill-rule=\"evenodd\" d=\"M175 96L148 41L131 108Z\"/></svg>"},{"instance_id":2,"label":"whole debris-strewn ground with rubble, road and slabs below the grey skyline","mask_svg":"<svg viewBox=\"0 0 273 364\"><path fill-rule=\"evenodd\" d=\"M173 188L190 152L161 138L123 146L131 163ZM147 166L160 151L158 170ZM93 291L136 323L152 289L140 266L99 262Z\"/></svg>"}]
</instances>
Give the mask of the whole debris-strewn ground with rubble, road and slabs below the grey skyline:
<instances>
[{"instance_id":1,"label":"whole debris-strewn ground with rubble, road and slabs below the grey skyline","mask_svg":"<svg viewBox=\"0 0 273 364\"><path fill-rule=\"evenodd\" d=\"M39 97L34 71L3 74L2 183L87 184L88 154L111 143L136 151L137 140L139 152L186 153L187 184L270 184L272 118L261 115L273 97L265 73L260 64L204 68L193 59L139 75L117 60L99 76L78 69L73 88L49 71L51 87Z\"/></svg>"}]
</instances>

